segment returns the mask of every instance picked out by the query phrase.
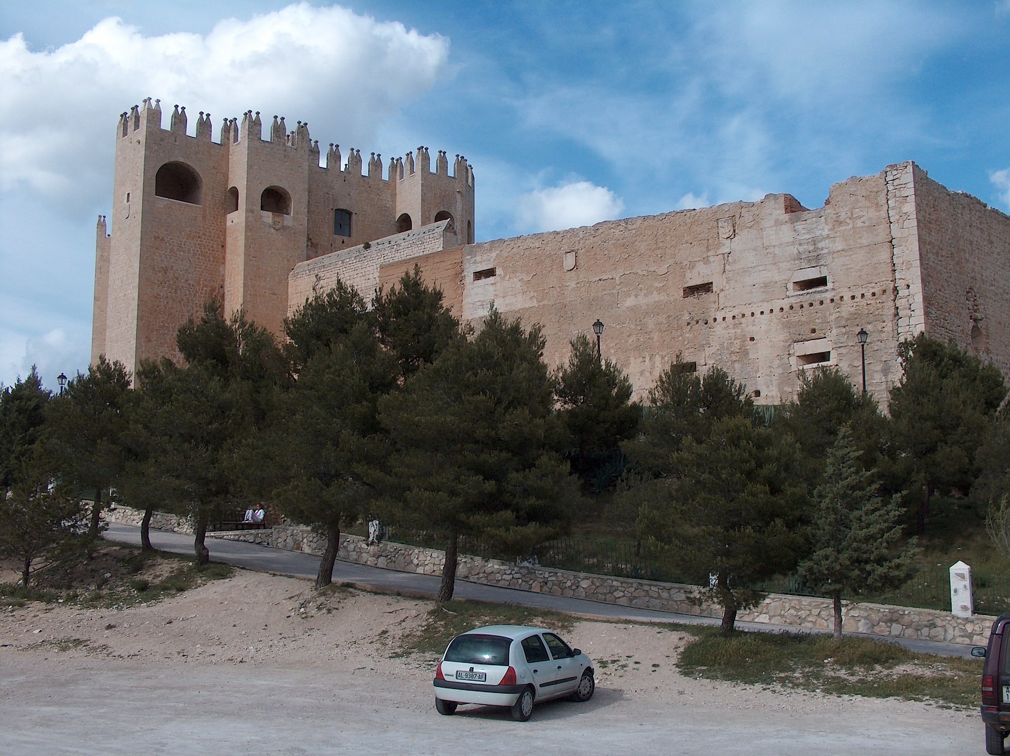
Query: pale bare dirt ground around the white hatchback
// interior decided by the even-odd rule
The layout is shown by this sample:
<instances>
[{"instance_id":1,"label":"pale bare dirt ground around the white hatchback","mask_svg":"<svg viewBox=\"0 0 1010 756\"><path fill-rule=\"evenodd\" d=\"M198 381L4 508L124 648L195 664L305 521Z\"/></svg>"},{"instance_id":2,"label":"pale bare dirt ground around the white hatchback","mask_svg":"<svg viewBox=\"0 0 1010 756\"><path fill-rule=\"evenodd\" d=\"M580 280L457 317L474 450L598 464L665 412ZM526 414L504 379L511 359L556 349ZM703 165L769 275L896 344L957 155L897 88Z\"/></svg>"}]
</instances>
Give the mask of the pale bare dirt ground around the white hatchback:
<instances>
[{"instance_id":1,"label":"pale bare dirt ground around the white hatchback","mask_svg":"<svg viewBox=\"0 0 1010 756\"><path fill-rule=\"evenodd\" d=\"M243 570L120 609L0 599L0 753L982 751L977 712L692 679L682 634L596 622L568 634L607 662L588 703L439 717L433 660L396 656L429 607Z\"/></svg>"}]
</instances>

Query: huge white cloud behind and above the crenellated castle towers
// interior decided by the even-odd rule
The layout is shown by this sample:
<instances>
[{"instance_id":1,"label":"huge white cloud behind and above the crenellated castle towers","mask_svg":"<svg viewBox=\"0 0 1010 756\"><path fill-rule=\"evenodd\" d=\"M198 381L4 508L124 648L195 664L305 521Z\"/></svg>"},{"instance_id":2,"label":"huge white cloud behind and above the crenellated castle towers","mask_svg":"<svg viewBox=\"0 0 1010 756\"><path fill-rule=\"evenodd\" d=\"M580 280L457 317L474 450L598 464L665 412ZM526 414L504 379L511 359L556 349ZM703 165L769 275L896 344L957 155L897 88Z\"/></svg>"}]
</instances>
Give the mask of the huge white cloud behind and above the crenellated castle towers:
<instances>
[{"instance_id":1,"label":"huge white cloud behind and above the crenellated castle towers","mask_svg":"<svg viewBox=\"0 0 1010 756\"><path fill-rule=\"evenodd\" d=\"M307 3L206 35L145 36L107 18L32 52L16 34L0 41L0 190L26 185L90 210L111 189L116 114L148 95L163 110L186 105L191 133L197 111L214 115L216 138L222 118L252 109L371 151L379 122L430 89L447 56L444 37Z\"/></svg>"}]
</instances>

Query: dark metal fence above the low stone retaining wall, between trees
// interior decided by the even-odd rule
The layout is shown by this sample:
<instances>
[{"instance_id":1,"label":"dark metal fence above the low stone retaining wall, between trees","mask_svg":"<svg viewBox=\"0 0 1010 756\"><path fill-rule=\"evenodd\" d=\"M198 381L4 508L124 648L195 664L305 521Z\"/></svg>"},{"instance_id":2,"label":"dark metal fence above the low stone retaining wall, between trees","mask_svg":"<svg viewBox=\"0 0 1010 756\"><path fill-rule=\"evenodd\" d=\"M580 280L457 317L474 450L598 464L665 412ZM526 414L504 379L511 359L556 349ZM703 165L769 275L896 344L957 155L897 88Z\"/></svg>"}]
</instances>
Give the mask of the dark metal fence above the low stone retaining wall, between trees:
<instances>
[{"instance_id":1,"label":"dark metal fence above the low stone retaining wall, between trees","mask_svg":"<svg viewBox=\"0 0 1010 756\"><path fill-rule=\"evenodd\" d=\"M444 538L433 533L407 533L397 530L391 532L388 539L410 546L445 548ZM460 540L460 553L489 559L509 559L493 545L467 538ZM673 583L691 582L679 574L668 560L664 559L662 553L651 548L647 542L641 541L568 536L542 544L529 555L528 559L535 559L536 563L544 567L574 572ZM820 596L816 591L807 589L795 575L768 580L755 587L769 593ZM976 612L999 615L1002 611L1010 611L1010 574L973 571L972 588ZM943 567L927 568L920 570L908 582L894 590L844 597L854 601L949 611L949 572Z\"/></svg>"}]
</instances>

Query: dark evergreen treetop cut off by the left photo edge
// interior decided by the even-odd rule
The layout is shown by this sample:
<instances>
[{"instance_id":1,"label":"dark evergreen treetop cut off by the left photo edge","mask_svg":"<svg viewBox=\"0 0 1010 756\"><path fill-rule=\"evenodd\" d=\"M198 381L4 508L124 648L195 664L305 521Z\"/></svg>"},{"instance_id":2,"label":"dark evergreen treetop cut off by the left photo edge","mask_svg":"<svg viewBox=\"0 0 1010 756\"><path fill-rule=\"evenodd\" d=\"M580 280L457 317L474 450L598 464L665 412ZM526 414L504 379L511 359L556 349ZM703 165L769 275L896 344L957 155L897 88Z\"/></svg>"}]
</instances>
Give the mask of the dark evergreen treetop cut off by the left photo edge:
<instances>
[{"instance_id":1,"label":"dark evergreen treetop cut off by the left photo edge","mask_svg":"<svg viewBox=\"0 0 1010 756\"><path fill-rule=\"evenodd\" d=\"M53 394L42 388L34 366L24 380L0 391L0 494L10 489L21 465L33 453Z\"/></svg>"}]
</instances>

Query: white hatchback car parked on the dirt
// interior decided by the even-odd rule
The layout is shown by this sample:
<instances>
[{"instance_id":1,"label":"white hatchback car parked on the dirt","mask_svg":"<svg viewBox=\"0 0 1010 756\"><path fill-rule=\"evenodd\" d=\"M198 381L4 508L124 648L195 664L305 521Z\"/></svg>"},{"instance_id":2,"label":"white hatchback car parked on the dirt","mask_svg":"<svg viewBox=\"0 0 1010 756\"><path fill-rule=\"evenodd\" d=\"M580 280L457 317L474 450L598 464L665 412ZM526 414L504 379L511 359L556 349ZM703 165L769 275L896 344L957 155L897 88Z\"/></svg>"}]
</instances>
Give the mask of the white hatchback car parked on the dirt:
<instances>
[{"instance_id":1,"label":"white hatchback car parked on the dirt","mask_svg":"<svg viewBox=\"0 0 1010 756\"><path fill-rule=\"evenodd\" d=\"M449 643L435 671L435 708L450 715L461 703L506 706L525 722L533 702L593 696L593 662L557 633L520 625L477 628Z\"/></svg>"}]
</instances>

